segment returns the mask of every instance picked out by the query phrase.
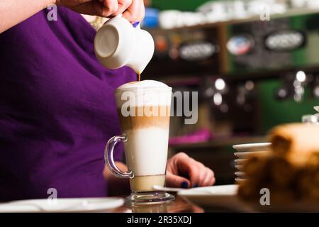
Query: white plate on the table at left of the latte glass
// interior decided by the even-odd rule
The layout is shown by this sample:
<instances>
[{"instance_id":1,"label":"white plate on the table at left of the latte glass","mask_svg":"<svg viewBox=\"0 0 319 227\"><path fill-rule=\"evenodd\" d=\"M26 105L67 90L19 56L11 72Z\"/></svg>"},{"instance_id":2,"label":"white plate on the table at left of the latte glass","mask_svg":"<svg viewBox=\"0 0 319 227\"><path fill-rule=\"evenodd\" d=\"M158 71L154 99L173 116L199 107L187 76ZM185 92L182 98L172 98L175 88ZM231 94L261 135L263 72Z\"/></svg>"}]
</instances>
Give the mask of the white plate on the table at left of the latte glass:
<instances>
[{"instance_id":1,"label":"white plate on the table at left of the latte glass","mask_svg":"<svg viewBox=\"0 0 319 227\"><path fill-rule=\"evenodd\" d=\"M79 199L28 199L0 203L0 213L12 212L95 212L114 209L124 204L124 199L79 198Z\"/></svg>"}]
</instances>

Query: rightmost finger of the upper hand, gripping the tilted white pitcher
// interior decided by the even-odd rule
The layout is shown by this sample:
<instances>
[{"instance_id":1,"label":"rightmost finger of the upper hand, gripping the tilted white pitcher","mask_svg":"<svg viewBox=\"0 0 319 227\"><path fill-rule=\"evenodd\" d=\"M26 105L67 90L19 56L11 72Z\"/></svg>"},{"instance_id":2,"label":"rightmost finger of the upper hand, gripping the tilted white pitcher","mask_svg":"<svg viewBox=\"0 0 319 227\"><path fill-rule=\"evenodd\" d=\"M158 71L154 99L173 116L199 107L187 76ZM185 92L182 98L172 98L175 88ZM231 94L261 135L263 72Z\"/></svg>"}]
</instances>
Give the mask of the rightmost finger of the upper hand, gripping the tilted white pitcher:
<instances>
[{"instance_id":1,"label":"rightmost finger of the upper hand, gripping the tilted white pitcher","mask_svg":"<svg viewBox=\"0 0 319 227\"><path fill-rule=\"evenodd\" d=\"M142 0L133 0L132 4L123 13L123 17L131 23L142 21L145 16L145 6Z\"/></svg>"}]
</instances>

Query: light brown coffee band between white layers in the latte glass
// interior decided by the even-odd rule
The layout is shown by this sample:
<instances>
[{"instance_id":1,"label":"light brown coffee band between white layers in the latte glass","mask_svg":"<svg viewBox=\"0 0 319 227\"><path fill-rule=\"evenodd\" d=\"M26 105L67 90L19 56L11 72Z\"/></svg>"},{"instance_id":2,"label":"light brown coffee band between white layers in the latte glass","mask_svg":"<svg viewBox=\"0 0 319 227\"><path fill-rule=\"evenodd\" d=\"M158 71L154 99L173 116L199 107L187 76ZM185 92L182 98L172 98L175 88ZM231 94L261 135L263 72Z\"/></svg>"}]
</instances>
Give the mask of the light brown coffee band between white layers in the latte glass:
<instances>
[{"instance_id":1,"label":"light brown coffee band between white layers in the latte glass","mask_svg":"<svg viewBox=\"0 0 319 227\"><path fill-rule=\"evenodd\" d=\"M148 127L169 128L169 106L134 106L132 108L134 116L123 116L121 109L118 109L122 131Z\"/></svg>"}]
</instances>

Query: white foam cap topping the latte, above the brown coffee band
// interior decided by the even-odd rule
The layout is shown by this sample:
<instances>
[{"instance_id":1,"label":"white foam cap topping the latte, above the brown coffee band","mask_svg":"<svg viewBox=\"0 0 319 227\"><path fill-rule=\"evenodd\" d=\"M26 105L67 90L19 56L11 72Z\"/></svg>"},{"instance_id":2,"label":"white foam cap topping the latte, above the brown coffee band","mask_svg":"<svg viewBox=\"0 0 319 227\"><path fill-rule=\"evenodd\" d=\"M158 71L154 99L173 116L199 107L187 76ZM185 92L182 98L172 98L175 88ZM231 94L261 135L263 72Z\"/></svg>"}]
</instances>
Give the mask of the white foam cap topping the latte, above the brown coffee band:
<instances>
[{"instance_id":1,"label":"white foam cap topping the latte, above the brown coffee band","mask_svg":"<svg viewBox=\"0 0 319 227\"><path fill-rule=\"evenodd\" d=\"M172 87L155 80L129 82L115 92L118 108L128 106L170 106Z\"/></svg>"}]
</instances>

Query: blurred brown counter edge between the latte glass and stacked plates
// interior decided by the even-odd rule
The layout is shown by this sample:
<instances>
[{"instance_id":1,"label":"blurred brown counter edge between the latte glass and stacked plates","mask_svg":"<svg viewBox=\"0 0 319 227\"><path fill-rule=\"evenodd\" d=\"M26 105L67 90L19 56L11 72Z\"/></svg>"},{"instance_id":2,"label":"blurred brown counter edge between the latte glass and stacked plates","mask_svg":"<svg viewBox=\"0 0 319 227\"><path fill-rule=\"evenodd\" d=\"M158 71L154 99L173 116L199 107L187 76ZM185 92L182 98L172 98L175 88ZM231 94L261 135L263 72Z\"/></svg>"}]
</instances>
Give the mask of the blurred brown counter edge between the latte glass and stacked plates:
<instances>
[{"instance_id":1,"label":"blurred brown counter edge between the latte glass and stacked plates","mask_svg":"<svg viewBox=\"0 0 319 227\"><path fill-rule=\"evenodd\" d=\"M233 146L240 143L264 143L267 142L265 136L242 136L231 138L215 138L213 140L203 143L184 143L180 145L170 145L169 148L173 150L193 149L193 148L221 148L227 146Z\"/></svg>"}]
</instances>

